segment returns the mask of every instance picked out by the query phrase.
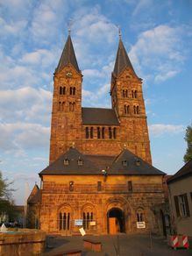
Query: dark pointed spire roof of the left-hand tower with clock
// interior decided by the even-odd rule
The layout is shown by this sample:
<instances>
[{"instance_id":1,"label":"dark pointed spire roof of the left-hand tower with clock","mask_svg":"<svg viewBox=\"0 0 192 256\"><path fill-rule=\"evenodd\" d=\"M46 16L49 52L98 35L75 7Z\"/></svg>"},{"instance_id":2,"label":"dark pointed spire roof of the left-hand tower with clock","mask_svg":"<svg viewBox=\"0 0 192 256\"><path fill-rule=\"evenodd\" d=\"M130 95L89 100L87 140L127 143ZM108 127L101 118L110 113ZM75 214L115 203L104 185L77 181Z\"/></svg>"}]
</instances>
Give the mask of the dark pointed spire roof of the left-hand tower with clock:
<instances>
[{"instance_id":1,"label":"dark pointed spire roof of the left-hand tower with clock","mask_svg":"<svg viewBox=\"0 0 192 256\"><path fill-rule=\"evenodd\" d=\"M67 42L60 56L60 61L57 68L55 69L55 72L60 71L60 69L64 68L68 64L71 64L76 69L77 72L79 73L81 72L77 64L74 46L73 46L70 35L68 35Z\"/></svg>"}]
</instances>

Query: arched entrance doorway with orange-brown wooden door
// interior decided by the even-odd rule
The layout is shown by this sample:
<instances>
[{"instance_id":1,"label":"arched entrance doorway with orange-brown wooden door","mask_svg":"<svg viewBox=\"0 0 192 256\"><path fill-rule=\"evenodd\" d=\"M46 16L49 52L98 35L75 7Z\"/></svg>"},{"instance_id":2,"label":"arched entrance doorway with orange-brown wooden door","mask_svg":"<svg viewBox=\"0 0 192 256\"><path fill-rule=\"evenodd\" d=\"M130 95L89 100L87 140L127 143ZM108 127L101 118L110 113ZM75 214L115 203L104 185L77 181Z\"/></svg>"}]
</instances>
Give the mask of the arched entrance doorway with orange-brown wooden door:
<instances>
[{"instance_id":1,"label":"arched entrance doorway with orange-brown wooden door","mask_svg":"<svg viewBox=\"0 0 192 256\"><path fill-rule=\"evenodd\" d=\"M119 208L112 208L107 213L108 233L117 234L125 232L124 211Z\"/></svg>"}]
</instances>

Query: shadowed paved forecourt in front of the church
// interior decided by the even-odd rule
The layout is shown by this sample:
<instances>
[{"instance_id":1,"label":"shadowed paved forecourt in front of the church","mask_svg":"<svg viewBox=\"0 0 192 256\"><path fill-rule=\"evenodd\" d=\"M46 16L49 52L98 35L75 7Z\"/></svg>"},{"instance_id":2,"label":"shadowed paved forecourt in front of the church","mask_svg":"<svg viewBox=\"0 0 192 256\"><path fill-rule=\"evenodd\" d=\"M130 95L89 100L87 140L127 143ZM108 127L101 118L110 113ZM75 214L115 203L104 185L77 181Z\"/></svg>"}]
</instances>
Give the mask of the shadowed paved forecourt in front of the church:
<instances>
[{"instance_id":1,"label":"shadowed paved forecourt in front of the church","mask_svg":"<svg viewBox=\"0 0 192 256\"><path fill-rule=\"evenodd\" d=\"M48 237L43 256L53 256L68 249L82 249L82 256L192 256L192 248L171 249L166 238L149 235L98 236L103 252L89 252L83 248L83 237ZM190 242L192 245L192 240Z\"/></svg>"}]
</instances>

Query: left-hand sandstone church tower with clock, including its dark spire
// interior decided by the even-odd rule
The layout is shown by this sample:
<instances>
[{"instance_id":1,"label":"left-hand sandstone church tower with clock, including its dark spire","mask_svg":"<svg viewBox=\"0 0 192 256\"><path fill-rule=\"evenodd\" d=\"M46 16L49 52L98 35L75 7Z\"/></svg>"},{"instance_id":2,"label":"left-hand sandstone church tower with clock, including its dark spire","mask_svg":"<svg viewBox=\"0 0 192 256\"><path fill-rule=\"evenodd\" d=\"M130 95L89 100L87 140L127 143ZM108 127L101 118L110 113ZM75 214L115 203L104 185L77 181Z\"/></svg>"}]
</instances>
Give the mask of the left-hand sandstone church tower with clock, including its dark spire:
<instances>
[{"instance_id":1,"label":"left-hand sandstone church tower with clock, including its dark spire","mask_svg":"<svg viewBox=\"0 0 192 256\"><path fill-rule=\"evenodd\" d=\"M50 163L70 146L82 149L82 72L69 32L53 76Z\"/></svg>"}]
</instances>

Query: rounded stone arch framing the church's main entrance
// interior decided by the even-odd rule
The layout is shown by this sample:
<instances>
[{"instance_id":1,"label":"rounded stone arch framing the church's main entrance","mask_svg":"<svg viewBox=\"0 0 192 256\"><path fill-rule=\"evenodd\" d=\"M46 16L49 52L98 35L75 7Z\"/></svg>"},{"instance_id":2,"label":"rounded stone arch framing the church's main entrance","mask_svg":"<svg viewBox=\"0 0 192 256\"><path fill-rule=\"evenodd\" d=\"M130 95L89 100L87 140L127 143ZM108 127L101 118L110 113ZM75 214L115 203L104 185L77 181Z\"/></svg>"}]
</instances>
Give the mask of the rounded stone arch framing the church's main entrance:
<instances>
[{"instance_id":1,"label":"rounded stone arch framing the church's main entrance","mask_svg":"<svg viewBox=\"0 0 192 256\"><path fill-rule=\"evenodd\" d=\"M105 230L111 233L110 218L116 218L117 231L130 231L132 209L128 200L123 196L113 196L107 200L105 205Z\"/></svg>"}]
</instances>

